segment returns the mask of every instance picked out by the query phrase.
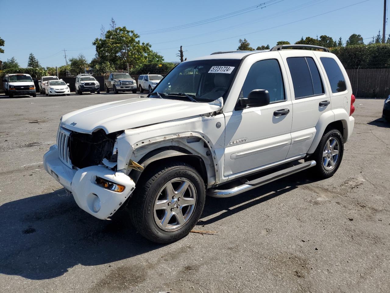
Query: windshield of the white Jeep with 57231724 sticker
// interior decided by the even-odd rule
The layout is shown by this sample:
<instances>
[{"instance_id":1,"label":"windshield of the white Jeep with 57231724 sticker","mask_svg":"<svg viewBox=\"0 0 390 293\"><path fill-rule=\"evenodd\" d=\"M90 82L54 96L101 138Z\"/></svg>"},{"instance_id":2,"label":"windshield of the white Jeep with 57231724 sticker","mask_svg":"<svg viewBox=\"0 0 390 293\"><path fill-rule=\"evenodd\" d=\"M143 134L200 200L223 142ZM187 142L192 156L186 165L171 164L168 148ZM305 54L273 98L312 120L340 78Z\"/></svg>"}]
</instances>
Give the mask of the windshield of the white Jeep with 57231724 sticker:
<instances>
[{"instance_id":1,"label":"windshield of the white Jeep with 57231724 sticker","mask_svg":"<svg viewBox=\"0 0 390 293\"><path fill-rule=\"evenodd\" d=\"M188 100L185 95L197 102L211 102L226 92L232 83L240 59L212 59L186 61L177 65L154 88L154 92L164 94L163 98Z\"/></svg>"}]
</instances>

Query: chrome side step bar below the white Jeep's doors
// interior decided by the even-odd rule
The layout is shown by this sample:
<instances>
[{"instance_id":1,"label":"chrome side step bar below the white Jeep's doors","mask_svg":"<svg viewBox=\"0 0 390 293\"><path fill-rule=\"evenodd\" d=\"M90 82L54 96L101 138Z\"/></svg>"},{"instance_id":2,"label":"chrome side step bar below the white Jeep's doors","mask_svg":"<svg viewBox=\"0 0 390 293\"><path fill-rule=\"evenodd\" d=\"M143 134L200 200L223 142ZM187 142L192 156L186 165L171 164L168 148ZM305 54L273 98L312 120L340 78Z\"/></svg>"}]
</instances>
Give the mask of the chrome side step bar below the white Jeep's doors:
<instances>
[{"instance_id":1,"label":"chrome side step bar below the white Jeep's doors","mask_svg":"<svg viewBox=\"0 0 390 293\"><path fill-rule=\"evenodd\" d=\"M300 172L302 170L308 169L313 166L316 166L316 161L308 161L284 170L277 171L275 173L268 174L266 176L257 178L252 181L247 181L244 184L236 186L234 188L230 188L230 189L211 188L207 191L207 195L211 197L232 197L234 195L238 195L245 191L257 188L269 182L281 179L283 177Z\"/></svg>"}]
</instances>

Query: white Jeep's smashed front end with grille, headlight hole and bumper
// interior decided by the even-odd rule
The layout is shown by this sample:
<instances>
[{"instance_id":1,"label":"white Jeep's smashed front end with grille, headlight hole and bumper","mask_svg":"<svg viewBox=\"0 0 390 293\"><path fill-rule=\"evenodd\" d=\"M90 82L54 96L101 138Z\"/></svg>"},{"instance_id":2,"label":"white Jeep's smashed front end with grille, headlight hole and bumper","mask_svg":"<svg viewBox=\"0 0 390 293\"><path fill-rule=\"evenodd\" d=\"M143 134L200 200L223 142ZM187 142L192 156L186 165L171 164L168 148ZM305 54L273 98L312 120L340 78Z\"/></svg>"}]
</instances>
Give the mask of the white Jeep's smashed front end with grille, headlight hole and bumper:
<instances>
[{"instance_id":1,"label":"white Jeep's smashed front end with grille, headlight hole and bumper","mask_svg":"<svg viewBox=\"0 0 390 293\"><path fill-rule=\"evenodd\" d=\"M57 144L44 155L46 171L99 219L112 216L135 188L126 172L117 170L116 138L122 132L85 134L60 126Z\"/></svg>"}]
</instances>

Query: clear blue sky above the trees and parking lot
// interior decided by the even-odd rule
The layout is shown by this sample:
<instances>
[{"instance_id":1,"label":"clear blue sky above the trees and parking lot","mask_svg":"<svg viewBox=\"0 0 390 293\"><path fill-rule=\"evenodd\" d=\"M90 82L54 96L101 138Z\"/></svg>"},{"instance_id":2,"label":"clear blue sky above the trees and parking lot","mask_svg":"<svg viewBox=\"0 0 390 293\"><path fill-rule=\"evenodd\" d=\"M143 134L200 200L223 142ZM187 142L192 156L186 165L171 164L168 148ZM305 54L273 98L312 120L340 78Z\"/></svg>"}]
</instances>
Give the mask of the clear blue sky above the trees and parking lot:
<instances>
[{"instance_id":1,"label":"clear blue sky above the trees and parking lot","mask_svg":"<svg viewBox=\"0 0 390 293\"><path fill-rule=\"evenodd\" d=\"M111 18L117 26L138 32L140 40L151 43L165 61L178 61L180 45L184 57L191 59L215 51L236 50L240 38L246 38L255 48L273 46L279 40L294 43L302 36L316 38L322 34L335 39L342 37L345 43L353 33L371 38L382 29L383 0L360 4L357 3L363 0L273 0L269 2L272 5L223 20L157 34L145 33L216 18L268 1L0 0L0 38L5 40L5 53L0 59L5 61L14 56L21 66L27 66L32 52L42 66L61 66L65 64L61 51L65 48L69 57L82 53L90 61L95 53L92 41L99 36L101 25L109 28ZM348 5L353 6L340 9ZM333 11L336 9L340 10ZM386 30L390 32L390 27L386 26Z\"/></svg>"}]
</instances>

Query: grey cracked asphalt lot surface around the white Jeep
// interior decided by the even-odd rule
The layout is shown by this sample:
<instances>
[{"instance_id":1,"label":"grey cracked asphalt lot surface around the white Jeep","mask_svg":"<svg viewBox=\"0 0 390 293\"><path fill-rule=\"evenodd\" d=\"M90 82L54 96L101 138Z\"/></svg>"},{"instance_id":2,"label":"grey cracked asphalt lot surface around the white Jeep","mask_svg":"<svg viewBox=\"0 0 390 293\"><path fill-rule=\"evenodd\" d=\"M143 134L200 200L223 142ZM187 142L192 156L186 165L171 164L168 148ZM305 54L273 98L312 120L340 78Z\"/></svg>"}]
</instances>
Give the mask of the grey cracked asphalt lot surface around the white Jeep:
<instances>
[{"instance_id":1,"label":"grey cracked asphalt lot surface around the white Jeep","mask_svg":"<svg viewBox=\"0 0 390 293\"><path fill-rule=\"evenodd\" d=\"M389 292L390 124L357 99L338 172L297 173L207 198L196 229L170 245L126 214L98 220L43 169L62 114L132 94L0 96L0 292Z\"/></svg>"}]
</instances>

